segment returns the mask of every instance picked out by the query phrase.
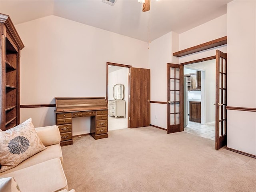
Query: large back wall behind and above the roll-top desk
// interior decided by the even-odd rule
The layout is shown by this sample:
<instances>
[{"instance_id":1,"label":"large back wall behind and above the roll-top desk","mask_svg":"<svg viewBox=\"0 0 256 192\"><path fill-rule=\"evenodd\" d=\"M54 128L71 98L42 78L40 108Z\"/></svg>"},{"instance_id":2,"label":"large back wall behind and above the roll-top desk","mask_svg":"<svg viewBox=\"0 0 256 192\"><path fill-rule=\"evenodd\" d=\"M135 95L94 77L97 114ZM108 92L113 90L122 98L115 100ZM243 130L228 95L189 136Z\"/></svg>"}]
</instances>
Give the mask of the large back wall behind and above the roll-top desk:
<instances>
[{"instance_id":1,"label":"large back wall behind and above the roll-top desk","mask_svg":"<svg viewBox=\"0 0 256 192\"><path fill-rule=\"evenodd\" d=\"M54 104L54 97L106 97L106 62L148 68L146 42L57 16L15 27L25 45L21 52L22 105ZM35 126L55 124L53 111L22 108L21 122L32 117ZM75 135L76 125L73 131Z\"/></svg>"}]
</instances>

